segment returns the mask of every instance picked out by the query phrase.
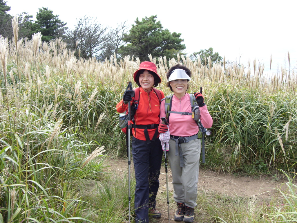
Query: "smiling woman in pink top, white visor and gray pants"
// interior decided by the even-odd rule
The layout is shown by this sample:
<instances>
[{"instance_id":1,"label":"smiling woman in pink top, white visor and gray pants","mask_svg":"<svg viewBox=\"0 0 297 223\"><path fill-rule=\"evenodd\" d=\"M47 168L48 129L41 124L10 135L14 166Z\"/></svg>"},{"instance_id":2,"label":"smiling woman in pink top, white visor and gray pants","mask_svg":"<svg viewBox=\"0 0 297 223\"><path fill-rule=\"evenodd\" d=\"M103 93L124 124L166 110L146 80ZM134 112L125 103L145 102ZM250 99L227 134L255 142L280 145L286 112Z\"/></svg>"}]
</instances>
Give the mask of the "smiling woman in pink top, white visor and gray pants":
<instances>
[{"instance_id":1,"label":"smiling woman in pink top, white visor and gray pants","mask_svg":"<svg viewBox=\"0 0 297 223\"><path fill-rule=\"evenodd\" d=\"M173 178L173 197L178 206L174 220L193 222L194 207L197 206L201 142L198 136L199 127L191 115L190 95L187 93L191 71L186 66L177 64L171 67L166 75L167 86L174 93L170 109L173 113L170 112L170 119L168 120L170 132L168 159ZM203 95L200 92L195 93L195 99L200 109L201 123L205 128L210 128L212 117L204 103ZM161 102L160 117L166 117L165 100ZM161 119L160 123L162 123ZM166 128L164 131L159 128L159 133L165 131Z\"/></svg>"}]
</instances>

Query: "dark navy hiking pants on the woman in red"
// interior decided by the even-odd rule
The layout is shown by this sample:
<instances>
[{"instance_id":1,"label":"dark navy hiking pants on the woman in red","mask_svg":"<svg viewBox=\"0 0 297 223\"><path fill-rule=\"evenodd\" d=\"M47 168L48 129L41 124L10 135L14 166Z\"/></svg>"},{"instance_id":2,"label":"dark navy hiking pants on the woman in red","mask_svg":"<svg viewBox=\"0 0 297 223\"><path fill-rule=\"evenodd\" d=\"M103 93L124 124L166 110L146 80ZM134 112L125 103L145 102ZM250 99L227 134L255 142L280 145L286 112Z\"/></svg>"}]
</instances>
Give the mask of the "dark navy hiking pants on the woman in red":
<instances>
[{"instance_id":1,"label":"dark navy hiking pants on the woman in red","mask_svg":"<svg viewBox=\"0 0 297 223\"><path fill-rule=\"evenodd\" d=\"M135 222L149 222L149 208L156 208L159 175L162 162L160 139L147 144L145 140L132 138L132 156L135 170Z\"/></svg>"}]
</instances>

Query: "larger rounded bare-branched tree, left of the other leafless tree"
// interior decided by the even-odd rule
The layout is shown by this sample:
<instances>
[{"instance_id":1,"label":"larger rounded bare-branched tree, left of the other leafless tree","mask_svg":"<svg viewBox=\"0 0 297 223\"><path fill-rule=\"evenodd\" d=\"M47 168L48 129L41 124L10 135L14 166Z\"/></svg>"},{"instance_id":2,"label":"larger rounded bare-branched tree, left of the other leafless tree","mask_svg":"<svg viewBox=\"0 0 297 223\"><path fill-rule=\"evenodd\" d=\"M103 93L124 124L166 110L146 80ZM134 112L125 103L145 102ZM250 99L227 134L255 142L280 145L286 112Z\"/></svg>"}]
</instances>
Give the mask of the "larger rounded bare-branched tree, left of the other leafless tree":
<instances>
[{"instance_id":1,"label":"larger rounded bare-branched tree, left of the other leafless tree","mask_svg":"<svg viewBox=\"0 0 297 223\"><path fill-rule=\"evenodd\" d=\"M106 30L107 27L97 23L96 18L84 16L78 20L73 30L66 32L68 47L76 50L76 56L98 56L99 51L104 48Z\"/></svg>"}]
</instances>

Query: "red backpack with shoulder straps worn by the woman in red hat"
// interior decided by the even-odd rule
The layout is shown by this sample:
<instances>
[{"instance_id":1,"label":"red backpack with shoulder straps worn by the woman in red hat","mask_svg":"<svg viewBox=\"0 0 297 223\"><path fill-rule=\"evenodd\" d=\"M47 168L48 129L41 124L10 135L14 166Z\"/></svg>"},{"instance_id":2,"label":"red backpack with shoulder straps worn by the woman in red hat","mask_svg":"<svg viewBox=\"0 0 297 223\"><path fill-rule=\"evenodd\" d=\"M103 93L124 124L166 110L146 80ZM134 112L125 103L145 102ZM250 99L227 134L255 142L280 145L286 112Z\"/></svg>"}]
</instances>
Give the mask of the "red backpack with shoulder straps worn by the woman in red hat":
<instances>
[{"instance_id":1,"label":"red backpack with shoulder straps worn by the woman in red hat","mask_svg":"<svg viewBox=\"0 0 297 223\"><path fill-rule=\"evenodd\" d=\"M153 88L154 92L156 93L159 103L161 103L161 92L158 89ZM138 103L140 99L140 90L139 87L134 88L135 96L134 100L132 102L132 105L130 106L131 108L131 120L134 123L134 115L138 109ZM137 100L135 100L137 99ZM126 110L126 113L124 116L120 116L120 128L121 130L126 133L127 132L127 125L128 125L128 109Z\"/></svg>"}]
</instances>

